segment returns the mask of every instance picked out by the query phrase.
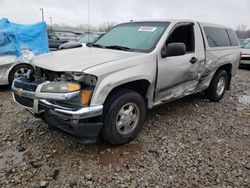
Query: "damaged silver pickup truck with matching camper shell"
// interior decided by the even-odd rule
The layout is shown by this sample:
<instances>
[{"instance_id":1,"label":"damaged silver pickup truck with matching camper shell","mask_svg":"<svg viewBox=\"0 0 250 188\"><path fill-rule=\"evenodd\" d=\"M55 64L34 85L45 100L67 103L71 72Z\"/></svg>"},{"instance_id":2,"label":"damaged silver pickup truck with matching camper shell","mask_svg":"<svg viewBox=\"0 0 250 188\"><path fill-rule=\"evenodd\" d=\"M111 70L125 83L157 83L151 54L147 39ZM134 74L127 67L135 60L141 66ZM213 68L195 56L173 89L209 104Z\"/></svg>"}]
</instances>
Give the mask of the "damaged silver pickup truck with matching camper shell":
<instances>
[{"instance_id":1,"label":"damaged silver pickup truck with matching camper shell","mask_svg":"<svg viewBox=\"0 0 250 188\"><path fill-rule=\"evenodd\" d=\"M117 25L87 48L37 56L14 100L82 143L125 144L147 109L205 91L219 101L240 62L230 28L192 20Z\"/></svg>"}]
</instances>

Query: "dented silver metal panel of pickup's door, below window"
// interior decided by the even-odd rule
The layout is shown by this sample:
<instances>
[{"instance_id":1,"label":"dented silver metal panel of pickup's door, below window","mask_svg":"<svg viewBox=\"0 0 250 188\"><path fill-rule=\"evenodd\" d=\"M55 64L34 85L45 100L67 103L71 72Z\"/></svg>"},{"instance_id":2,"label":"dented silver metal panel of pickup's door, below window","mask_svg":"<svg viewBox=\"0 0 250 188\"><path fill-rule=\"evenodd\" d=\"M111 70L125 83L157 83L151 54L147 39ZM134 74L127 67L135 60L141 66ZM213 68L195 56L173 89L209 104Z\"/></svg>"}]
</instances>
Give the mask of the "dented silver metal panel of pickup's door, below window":
<instances>
[{"instance_id":1,"label":"dented silver metal panel of pickup's door, below window","mask_svg":"<svg viewBox=\"0 0 250 188\"><path fill-rule=\"evenodd\" d=\"M168 57L162 62L166 72L161 71L161 79L158 82L157 95L161 102L167 102L176 98L192 94L198 84L198 73L195 65L189 63L193 54L181 57ZM171 66L168 66L171 65Z\"/></svg>"}]
</instances>

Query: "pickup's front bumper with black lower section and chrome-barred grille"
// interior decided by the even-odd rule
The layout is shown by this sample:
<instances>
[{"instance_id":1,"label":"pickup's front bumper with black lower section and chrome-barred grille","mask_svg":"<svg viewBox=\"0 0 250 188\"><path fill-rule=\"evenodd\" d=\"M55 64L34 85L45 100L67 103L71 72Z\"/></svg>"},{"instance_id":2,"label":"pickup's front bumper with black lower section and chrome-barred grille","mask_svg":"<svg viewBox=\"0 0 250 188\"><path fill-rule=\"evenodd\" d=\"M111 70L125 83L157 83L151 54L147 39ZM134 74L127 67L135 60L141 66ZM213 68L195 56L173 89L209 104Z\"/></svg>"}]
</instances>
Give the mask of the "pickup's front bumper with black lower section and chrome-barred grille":
<instances>
[{"instance_id":1,"label":"pickup's front bumper with black lower section and chrome-barred grille","mask_svg":"<svg viewBox=\"0 0 250 188\"><path fill-rule=\"evenodd\" d=\"M69 108L53 101L67 101L80 95L72 93L41 93L45 83L30 83L25 79L17 79L12 84L14 101L28 109L35 116L41 117L52 127L76 138L82 143L95 142L102 127L98 122L103 113L103 106Z\"/></svg>"}]
</instances>

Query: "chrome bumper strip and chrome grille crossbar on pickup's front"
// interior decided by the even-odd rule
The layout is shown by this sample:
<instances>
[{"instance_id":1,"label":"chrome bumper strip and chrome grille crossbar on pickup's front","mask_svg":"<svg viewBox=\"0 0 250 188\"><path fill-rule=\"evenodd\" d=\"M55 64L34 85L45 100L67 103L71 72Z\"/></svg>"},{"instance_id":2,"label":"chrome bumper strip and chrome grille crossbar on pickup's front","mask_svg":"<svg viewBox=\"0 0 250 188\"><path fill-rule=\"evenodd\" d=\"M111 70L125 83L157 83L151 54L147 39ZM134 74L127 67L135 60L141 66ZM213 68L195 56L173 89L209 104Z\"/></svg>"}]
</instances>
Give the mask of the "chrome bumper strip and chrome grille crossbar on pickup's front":
<instances>
[{"instance_id":1,"label":"chrome bumper strip and chrome grille crossbar on pickup's front","mask_svg":"<svg viewBox=\"0 0 250 188\"><path fill-rule=\"evenodd\" d=\"M43 113L45 110L49 110L51 114L60 117L66 118L69 120L81 120L92 117L97 117L102 115L103 113L103 105L99 106L91 106L91 107L83 107L80 109L71 109L64 106L59 106L51 103L49 100L70 100L74 97L80 95L80 92L72 92L72 93L41 93L40 90L42 88L42 84L39 84L35 91L27 91L22 88L15 87L16 82L21 82L20 80L15 80L12 84L12 92L14 101L20 106L28 109L34 114ZM16 98L26 98L28 100L33 101L33 106L28 106L26 104L21 104L18 102Z\"/></svg>"}]
</instances>

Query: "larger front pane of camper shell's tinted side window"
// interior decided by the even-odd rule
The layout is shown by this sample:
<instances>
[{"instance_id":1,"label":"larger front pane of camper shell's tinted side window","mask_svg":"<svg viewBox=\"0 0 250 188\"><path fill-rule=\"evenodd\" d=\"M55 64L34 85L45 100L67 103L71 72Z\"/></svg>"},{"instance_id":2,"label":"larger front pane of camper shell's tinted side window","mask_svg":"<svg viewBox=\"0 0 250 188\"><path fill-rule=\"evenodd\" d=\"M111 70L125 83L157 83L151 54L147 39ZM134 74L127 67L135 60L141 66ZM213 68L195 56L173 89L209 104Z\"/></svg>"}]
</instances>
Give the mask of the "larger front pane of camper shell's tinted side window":
<instances>
[{"instance_id":1,"label":"larger front pane of camper shell's tinted side window","mask_svg":"<svg viewBox=\"0 0 250 188\"><path fill-rule=\"evenodd\" d=\"M231 46L227 30L216 27L204 27L208 45L210 47Z\"/></svg>"}]
</instances>

